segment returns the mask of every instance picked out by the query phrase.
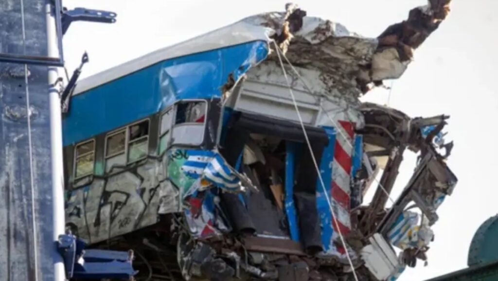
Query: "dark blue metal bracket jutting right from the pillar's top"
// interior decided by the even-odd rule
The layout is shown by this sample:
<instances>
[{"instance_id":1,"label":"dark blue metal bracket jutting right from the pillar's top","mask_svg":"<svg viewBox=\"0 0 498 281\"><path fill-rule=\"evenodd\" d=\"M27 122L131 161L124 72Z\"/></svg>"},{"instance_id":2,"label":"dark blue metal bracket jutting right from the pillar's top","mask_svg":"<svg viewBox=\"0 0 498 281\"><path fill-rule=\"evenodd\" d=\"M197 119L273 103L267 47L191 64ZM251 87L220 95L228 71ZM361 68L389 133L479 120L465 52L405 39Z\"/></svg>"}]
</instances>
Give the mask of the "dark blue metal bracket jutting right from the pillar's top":
<instances>
[{"instance_id":1,"label":"dark blue metal bracket jutting right from the pillar's top","mask_svg":"<svg viewBox=\"0 0 498 281\"><path fill-rule=\"evenodd\" d=\"M68 10L63 8L62 11L62 34L66 34L69 25L73 21L93 21L93 22L105 22L114 23L116 22L116 13L111 11L103 10L91 10L87 8L74 8Z\"/></svg>"}]
</instances>

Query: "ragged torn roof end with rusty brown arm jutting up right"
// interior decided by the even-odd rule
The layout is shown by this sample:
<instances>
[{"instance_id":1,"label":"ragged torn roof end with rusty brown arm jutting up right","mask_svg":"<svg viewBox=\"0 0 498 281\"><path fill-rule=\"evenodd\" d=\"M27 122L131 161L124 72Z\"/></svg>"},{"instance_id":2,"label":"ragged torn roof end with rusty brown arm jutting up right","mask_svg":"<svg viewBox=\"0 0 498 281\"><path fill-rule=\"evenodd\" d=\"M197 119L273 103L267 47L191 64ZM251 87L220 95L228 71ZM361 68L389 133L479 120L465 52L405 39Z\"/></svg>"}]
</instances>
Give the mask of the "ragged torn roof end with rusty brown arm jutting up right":
<instances>
[{"instance_id":1,"label":"ragged torn roof end with rusty brown arm jutting up right","mask_svg":"<svg viewBox=\"0 0 498 281\"><path fill-rule=\"evenodd\" d=\"M321 72L329 93L358 97L381 84L399 78L417 48L449 12L451 0L429 0L412 9L408 19L389 26L378 38L363 37L344 25L306 16L296 5L286 12L269 12L244 19L273 29L270 36L280 43L289 60ZM271 47L273 47L271 45ZM270 59L277 60L275 54Z\"/></svg>"}]
</instances>

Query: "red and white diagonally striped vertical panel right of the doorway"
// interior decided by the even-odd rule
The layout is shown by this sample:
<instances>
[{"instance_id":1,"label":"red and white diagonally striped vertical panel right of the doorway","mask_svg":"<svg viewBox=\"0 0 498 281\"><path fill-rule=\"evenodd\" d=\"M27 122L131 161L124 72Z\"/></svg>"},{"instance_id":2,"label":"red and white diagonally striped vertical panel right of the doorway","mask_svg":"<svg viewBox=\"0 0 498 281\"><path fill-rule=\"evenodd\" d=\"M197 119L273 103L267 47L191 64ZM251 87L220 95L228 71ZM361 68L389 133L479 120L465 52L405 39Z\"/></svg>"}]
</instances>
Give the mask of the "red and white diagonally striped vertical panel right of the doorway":
<instances>
[{"instance_id":1,"label":"red and white diagonally striped vertical panel right of the doorway","mask_svg":"<svg viewBox=\"0 0 498 281\"><path fill-rule=\"evenodd\" d=\"M336 144L334 147L334 162L332 165L332 207L336 215L341 234L347 235L351 231L351 164L353 154L353 136L355 124L339 120L336 128ZM338 232L334 222L334 232ZM339 234L334 235L336 238Z\"/></svg>"}]
</instances>

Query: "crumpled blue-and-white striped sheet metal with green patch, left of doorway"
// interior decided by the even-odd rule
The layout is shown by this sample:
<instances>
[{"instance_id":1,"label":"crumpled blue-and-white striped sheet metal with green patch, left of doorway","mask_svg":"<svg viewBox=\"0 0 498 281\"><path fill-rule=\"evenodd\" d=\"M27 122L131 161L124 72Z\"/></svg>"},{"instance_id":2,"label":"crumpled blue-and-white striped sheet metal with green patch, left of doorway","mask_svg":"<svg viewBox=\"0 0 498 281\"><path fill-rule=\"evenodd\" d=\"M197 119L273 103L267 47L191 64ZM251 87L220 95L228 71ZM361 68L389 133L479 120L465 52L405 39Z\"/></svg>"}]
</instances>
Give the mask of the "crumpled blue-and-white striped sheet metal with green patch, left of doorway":
<instances>
[{"instance_id":1,"label":"crumpled blue-and-white striped sheet metal with green patch, left of doorway","mask_svg":"<svg viewBox=\"0 0 498 281\"><path fill-rule=\"evenodd\" d=\"M218 205L218 191L245 192L250 181L231 167L216 151L170 150L174 155L169 177L181 191L184 214L190 234L198 239L220 237L229 231Z\"/></svg>"}]
</instances>

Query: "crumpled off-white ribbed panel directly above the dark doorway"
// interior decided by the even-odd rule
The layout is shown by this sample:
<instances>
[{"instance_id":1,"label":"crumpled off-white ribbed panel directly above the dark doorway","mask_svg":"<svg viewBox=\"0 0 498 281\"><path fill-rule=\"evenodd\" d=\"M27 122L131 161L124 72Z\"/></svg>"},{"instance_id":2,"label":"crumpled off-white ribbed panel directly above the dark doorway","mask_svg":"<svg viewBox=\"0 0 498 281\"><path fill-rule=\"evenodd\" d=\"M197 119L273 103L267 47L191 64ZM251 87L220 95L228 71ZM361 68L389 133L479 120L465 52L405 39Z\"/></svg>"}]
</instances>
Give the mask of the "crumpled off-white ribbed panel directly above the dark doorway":
<instances>
[{"instance_id":1,"label":"crumpled off-white ribbed panel directly above the dark doorway","mask_svg":"<svg viewBox=\"0 0 498 281\"><path fill-rule=\"evenodd\" d=\"M295 69L302 79L293 71L288 71L287 77L304 123L335 127L340 120L348 120L355 123L357 129L364 126L365 121L360 112L362 103L359 99L343 95L337 89L330 89L320 78L321 74L316 69L300 66L296 66ZM261 107L261 104L250 108L245 108L242 105L243 110L299 122L289 94L287 81L278 62L266 60L252 67L241 84L242 97L237 100L238 107L244 104L246 95L257 94L259 98L264 97L271 101L278 100L280 106L272 105L273 110L266 110L266 108ZM236 98L237 96L234 95L233 99ZM230 102L229 100L227 104L230 105ZM310 108L313 107L316 108L316 112L311 113ZM286 114L281 113L284 109Z\"/></svg>"}]
</instances>

